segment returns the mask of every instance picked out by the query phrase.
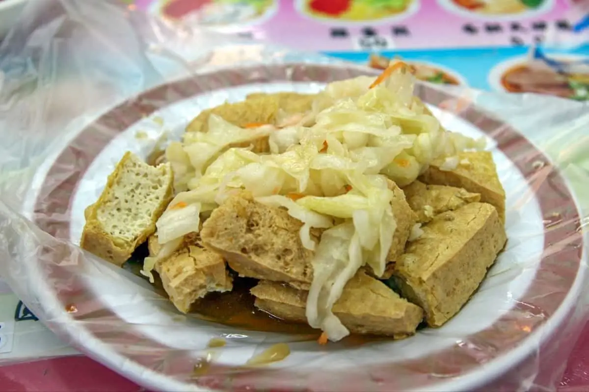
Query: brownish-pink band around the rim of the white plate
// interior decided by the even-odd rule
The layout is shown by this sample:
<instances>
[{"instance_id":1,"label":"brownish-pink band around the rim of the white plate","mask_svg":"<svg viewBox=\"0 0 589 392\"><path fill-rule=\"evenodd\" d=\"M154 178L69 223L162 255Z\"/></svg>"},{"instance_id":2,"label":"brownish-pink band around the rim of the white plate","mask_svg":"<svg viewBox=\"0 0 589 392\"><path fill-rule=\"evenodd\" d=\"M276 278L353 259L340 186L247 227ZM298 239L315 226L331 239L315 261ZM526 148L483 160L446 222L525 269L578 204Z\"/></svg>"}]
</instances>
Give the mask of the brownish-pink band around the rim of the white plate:
<instances>
[{"instance_id":1,"label":"brownish-pink band around the rim of the white plate","mask_svg":"<svg viewBox=\"0 0 589 392\"><path fill-rule=\"evenodd\" d=\"M327 83L369 73L368 69L355 66L305 63L260 65L213 71L141 93L88 125L62 151L39 192L35 205L35 223L52 236L69 239L72 199L92 160L115 136L158 109L202 93L250 83ZM75 320L88 320L100 312L100 320L105 321L104 327L92 328L89 332L110 346L113 352L145 368L159 369L159 373L177 381L212 389L358 391L428 388L448 378L465 376L482 364L507 354L542 326L570 292L583 253L577 206L558 170L517 131L476 109L474 105L465 106L460 98L431 86L418 85L416 94L426 103L454 110L461 118L494 138L497 148L521 171L540 204L544 218L544 252L540 266L527 292L517 304L487 329L447 349L402 363L367 364L337 372L318 369L312 373L301 373L294 368L213 365L206 376L194 378L191 376L194 357L190 351L176 349L173 358L170 358L166 355L170 350L168 347L135 329L132 324L125 330L113 331L108 328L108 325L121 325L125 321L107 303L102 303L100 298L90 292L80 277L72 276L67 268L68 263L64 263L63 253L60 255L55 249L41 249L43 268L47 279L56 282L58 300L64 304L64 308L75 303L77 312L71 314ZM73 172L72 162L75 162ZM59 179L58 186L55 186L56 179ZM557 249L554 249L555 246ZM552 288L550 295L546 295L547 285ZM149 350L128 349L134 346ZM84 350L83 347L81 349ZM107 359L104 361L108 363ZM403 377L403 374L408 377ZM287 386L286 389L284 386Z\"/></svg>"}]
</instances>

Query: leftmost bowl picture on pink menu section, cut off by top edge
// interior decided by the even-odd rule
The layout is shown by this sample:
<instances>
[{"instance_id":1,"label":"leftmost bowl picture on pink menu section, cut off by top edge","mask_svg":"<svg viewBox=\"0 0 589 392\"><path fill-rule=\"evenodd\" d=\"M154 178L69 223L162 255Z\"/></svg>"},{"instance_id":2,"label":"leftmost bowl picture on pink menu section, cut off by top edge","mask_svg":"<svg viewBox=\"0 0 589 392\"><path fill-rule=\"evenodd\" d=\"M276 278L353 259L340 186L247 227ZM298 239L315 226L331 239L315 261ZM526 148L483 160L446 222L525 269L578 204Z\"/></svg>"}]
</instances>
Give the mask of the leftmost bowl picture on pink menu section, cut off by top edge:
<instances>
[{"instance_id":1,"label":"leftmost bowl picture on pink menu section, cut off by top edge","mask_svg":"<svg viewBox=\"0 0 589 392\"><path fill-rule=\"evenodd\" d=\"M161 0L153 11L171 19L226 26L265 21L276 9L276 0Z\"/></svg>"}]
</instances>

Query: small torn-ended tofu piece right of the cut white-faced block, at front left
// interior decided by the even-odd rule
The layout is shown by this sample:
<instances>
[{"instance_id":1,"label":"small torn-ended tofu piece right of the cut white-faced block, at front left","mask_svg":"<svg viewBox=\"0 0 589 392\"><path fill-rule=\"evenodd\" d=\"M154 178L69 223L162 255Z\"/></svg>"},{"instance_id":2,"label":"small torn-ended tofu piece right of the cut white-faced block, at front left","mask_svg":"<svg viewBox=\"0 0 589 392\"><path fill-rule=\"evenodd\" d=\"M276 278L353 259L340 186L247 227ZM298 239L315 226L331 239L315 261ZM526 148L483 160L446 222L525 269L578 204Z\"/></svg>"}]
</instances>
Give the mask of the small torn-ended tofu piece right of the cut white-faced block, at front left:
<instances>
[{"instance_id":1,"label":"small torn-ended tofu piece right of the cut white-faced block, at front left","mask_svg":"<svg viewBox=\"0 0 589 392\"><path fill-rule=\"evenodd\" d=\"M194 301L208 293L233 289L223 257L196 244L155 263L155 271L160 274L170 300L182 313L187 313Z\"/></svg>"}]
</instances>

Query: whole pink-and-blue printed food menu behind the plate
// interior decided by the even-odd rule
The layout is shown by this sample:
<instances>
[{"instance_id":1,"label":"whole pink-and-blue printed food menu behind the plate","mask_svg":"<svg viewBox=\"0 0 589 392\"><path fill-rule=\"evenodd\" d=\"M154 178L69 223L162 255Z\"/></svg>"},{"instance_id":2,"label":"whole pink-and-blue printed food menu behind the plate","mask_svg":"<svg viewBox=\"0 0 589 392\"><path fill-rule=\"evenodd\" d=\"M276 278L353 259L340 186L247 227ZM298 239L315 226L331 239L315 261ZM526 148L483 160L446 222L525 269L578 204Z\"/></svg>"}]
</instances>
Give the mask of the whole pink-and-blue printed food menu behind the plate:
<instances>
[{"instance_id":1,"label":"whole pink-and-blue printed food menu behind the plate","mask_svg":"<svg viewBox=\"0 0 589 392\"><path fill-rule=\"evenodd\" d=\"M401 58L426 82L589 97L583 12L569 0L137 0L172 20L375 68ZM586 39L583 37L585 36ZM547 42L548 41L548 42ZM554 58L530 47L577 42ZM570 66L574 63L574 66Z\"/></svg>"}]
</instances>

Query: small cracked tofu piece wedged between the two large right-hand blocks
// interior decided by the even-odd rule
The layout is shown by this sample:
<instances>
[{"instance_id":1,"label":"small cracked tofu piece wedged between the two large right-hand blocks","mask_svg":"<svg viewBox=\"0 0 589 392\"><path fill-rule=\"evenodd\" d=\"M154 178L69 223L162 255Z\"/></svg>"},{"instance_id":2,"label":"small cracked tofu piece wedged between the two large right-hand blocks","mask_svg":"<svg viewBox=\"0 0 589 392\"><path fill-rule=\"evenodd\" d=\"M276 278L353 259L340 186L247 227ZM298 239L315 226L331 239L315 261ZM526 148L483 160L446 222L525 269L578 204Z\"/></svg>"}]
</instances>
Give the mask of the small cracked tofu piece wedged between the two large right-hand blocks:
<instances>
[{"instance_id":1,"label":"small cracked tofu piece wedged between the two large right-hand blocks","mask_svg":"<svg viewBox=\"0 0 589 392\"><path fill-rule=\"evenodd\" d=\"M419 223L427 223L442 212L454 211L481 200L478 193L454 186L425 185L421 181L413 181L403 188L403 192L409 206L417 214Z\"/></svg>"}]
</instances>

